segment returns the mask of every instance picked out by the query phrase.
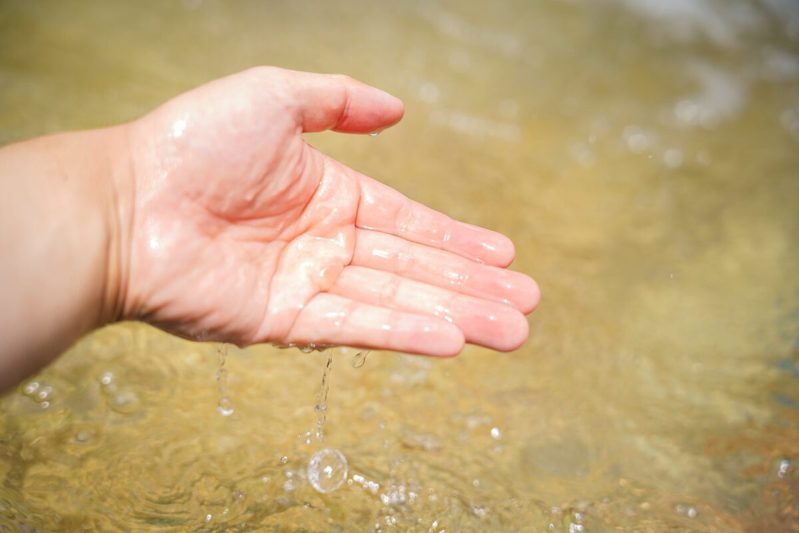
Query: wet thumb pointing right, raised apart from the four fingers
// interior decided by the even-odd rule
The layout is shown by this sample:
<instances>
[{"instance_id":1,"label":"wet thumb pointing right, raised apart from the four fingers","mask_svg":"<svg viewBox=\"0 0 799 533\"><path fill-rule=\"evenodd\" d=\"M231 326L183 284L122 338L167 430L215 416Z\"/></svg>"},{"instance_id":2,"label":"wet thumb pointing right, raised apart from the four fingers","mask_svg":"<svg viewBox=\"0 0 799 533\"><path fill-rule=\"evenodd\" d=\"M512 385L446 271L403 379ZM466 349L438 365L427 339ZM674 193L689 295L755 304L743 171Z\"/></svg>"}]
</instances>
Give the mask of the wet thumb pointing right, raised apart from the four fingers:
<instances>
[{"instance_id":1,"label":"wet thumb pointing right, raised apart from the four fingers","mask_svg":"<svg viewBox=\"0 0 799 533\"><path fill-rule=\"evenodd\" d=\"M305 132L370 133L402 118L402 101L340 74L286 71L298 122Z\"/></svg>"}]
</instances>

